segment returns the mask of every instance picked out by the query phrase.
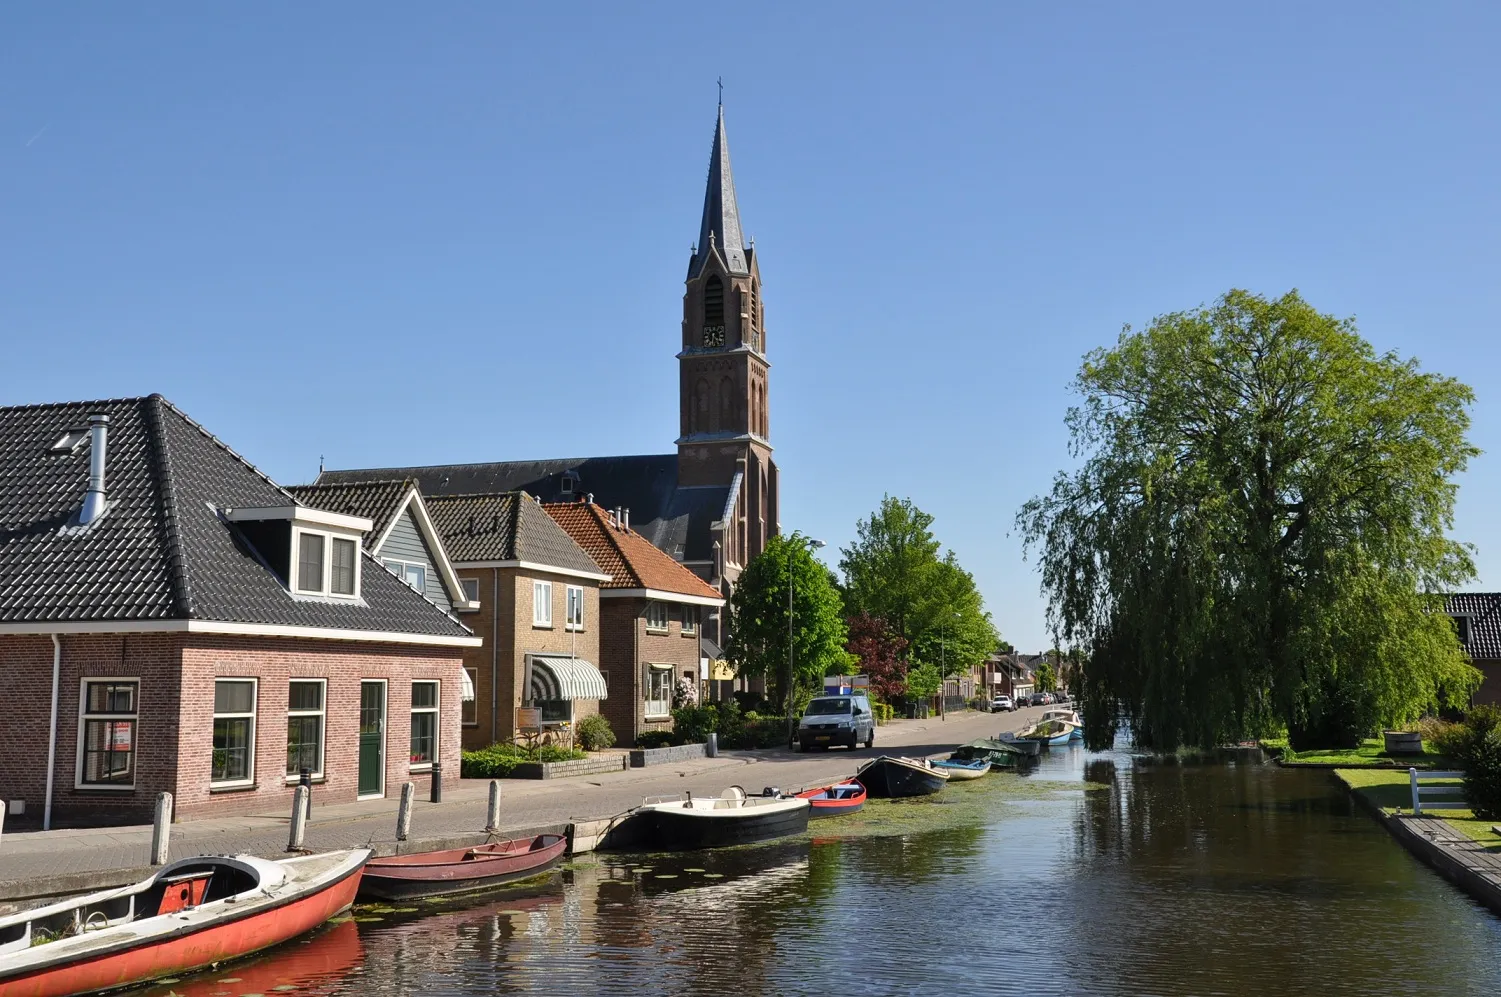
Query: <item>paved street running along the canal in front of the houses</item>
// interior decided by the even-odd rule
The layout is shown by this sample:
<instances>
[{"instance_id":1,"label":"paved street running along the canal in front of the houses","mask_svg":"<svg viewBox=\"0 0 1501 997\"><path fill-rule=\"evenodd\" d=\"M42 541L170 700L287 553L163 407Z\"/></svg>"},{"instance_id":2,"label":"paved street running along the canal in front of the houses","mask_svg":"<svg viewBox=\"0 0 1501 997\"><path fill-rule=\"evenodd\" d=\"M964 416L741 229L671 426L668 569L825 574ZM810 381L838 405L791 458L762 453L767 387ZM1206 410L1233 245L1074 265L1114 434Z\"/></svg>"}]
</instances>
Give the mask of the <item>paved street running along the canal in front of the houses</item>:
<instances>
[{"instance_id":1,"label":"paved street running along the canal in front of the houses","mask_svg":"<svg viewBox=\"0 0 1501 997\"><path fill-rule=\"evenodd\" d=\"M860 763L883 752L937 754L974 737L1021 727L1040 713L1040 709L1001 715L965 712L947 719L896 721L880 728L874 749L854 752L725 752L719 758L572 779L507 779L503 781L498 836L578 826L582 830L578 844L588 848L611 818L636 806L644 796L687 790L708 794L737 784L754 791L769 785L794 790L826 784L853 775ZM371 847L377 854L393 854L398 847L411 853L477 844L488 838L483 832L486 797L488 782L474 779L447 793L443 803L419 802L410 839L396 842L395 799L321 806L315 794L305 844L314 851ZM236 853L279 857L285 854L288 823L285 814L260 814L174 824L170 857ZM150 836L149 826L5 833L0 836L0 904L138 881L150 874Z\"/></svg>"}]
</instances>

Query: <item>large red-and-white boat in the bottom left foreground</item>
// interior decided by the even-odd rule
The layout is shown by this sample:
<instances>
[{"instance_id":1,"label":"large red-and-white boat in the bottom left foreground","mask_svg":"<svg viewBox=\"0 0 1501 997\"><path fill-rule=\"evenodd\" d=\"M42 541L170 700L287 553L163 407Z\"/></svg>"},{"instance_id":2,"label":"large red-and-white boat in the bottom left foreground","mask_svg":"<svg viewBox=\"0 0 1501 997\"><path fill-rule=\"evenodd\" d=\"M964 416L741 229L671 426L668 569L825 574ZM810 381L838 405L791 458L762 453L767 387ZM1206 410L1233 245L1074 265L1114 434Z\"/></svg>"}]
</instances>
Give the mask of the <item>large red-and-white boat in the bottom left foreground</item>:
<instances>
[{"instance_id":1,"label":"large red-and-white boat in the bottom left foreground","mask_svg":"<svg viewBox=\"0 0 1501 997\"><path fill-rule=\"evenodd\" d=\"M0 997L96 994L281 944L354 902L369 854L183 859L144 883L0 917Z\"/></svg>"}]
</instances>

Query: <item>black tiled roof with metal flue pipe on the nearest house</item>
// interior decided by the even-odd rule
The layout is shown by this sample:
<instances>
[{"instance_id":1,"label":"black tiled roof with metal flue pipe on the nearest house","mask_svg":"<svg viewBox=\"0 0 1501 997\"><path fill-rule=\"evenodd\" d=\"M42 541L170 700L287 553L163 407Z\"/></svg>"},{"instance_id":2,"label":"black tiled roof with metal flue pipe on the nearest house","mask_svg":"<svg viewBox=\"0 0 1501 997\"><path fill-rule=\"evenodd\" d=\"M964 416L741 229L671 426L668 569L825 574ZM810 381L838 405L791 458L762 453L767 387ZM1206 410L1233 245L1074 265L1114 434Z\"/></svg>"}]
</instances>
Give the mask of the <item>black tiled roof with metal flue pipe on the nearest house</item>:
<instances>
[{"instance_id":1,"label":"black tiled roof with metal flue pipe on the nearest house","mask_svg":"<svg viewBox=\"0 0 1501 997\"><path fill-rule=\"evenodd\" d=\"M87 491L90 444L51 446L95 413L111 417L108 512L68 529ZM362 599L294 599L222 515L287 505L287 491L161 395L0 408L0 622L194 619L470 635L368 553Z\"/></svg>"}]
</instances>

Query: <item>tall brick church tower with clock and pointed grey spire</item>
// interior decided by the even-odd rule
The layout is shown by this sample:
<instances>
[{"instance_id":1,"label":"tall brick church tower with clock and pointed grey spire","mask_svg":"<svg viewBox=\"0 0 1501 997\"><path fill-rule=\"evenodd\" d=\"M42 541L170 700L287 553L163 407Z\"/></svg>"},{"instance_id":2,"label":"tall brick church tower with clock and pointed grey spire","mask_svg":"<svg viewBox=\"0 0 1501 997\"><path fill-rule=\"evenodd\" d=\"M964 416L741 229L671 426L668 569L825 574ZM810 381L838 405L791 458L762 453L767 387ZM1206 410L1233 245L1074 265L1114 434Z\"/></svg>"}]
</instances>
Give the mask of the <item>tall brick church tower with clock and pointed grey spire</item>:
<instances>
[{"instance_id":1,"label":"tall brick church tower with clock and pointed grey spire","mask_svg":"<svg viewBox=\"0 0 1501 997\"><path fill-rule=\"evenodd\" d=\"M778 532L766 350L761 267L755 243L747 246L741 234L720 105L708 153L704 216L683 293L677 483L731 486L740 523L725 524L726 532L738 527L726 547L738 548L729 560L740 565L749 563Z\"/></svg>"}]
</instances>

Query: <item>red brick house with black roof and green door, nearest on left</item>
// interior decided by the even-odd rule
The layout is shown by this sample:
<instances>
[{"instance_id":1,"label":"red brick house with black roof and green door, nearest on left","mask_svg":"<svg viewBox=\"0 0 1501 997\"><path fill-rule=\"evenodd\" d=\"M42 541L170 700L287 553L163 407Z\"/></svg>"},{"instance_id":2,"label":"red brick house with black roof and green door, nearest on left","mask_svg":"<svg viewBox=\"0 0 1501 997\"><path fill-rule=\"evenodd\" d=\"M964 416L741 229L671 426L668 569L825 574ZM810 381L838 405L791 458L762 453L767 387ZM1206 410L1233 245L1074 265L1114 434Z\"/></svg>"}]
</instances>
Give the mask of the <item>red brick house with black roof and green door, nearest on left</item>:
<instances>
[{"instance_id":1,"label":"red brick house with black roof and green door, nearest on left","mask_svg":"<svg viewBox=\"0 0 1501 997\"><path fill-rule=\"evenodd\" d=\"M0 408L0 799L42 824L459 776L479 638L161 395Z\"/></svg>"}]
</instances>

